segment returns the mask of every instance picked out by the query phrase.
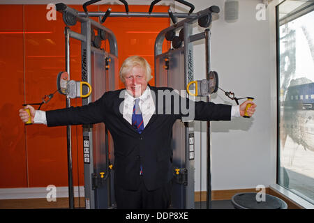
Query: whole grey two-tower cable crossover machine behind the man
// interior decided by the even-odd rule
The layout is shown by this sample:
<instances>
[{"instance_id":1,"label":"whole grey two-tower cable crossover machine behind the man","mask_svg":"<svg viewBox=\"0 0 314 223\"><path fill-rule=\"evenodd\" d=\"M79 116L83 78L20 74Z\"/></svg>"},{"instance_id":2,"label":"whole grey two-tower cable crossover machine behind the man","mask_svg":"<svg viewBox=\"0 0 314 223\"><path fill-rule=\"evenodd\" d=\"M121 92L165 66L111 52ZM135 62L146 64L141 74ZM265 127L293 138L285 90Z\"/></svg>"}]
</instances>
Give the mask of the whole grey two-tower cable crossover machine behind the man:
<instances>
[{"instance_id":1,"label":"whole grey two-tower cable crossover machine behind the man","mask_svg":"<svg viewBox=\"0 0 314 223\"><path fill-rule=\"evenodd\" d=\"M155 85L168 86L177 90L186 91L188 84L193 82L193 42L205 40L206 79L214 88L208 88L205 95L217 91L218 77L210 71L210 29L213 16L219 13L218 6L211 6L198 13L193 13L194 6L184 0L174 0L190 8L188 13L154 13L154 5L161 0L151 2L148 12L129 12L128 3L124 3L126 12L112 12L108 8L105 12L89 12L88 6L100 0L91 0L83 4L82 12L57 3L56 10L63 15L66 40L66 72L68 75L59 74L58 88L65 82L70 83L70 38L80 40L82 59L82 84L77 85L77 91L82 95L82 105L98 100L105 91L118 89L117 73L119 73L117 39L114 33L103 26L107 17L170 17L172 26L158 33L154 47L155 58ZM90 17L99 17L100 22L91 20ZM183 18L177 22L178 18ZM81 33L70 29L80 22ZM204 28L201 33L193 34L193 24ZM95 34L97 33L97 35ZM177 35L179 33L179 35ZM171 41L172 48L162 52L164 40ZM110 49L101 48L103 41L107 41ZM78 84L78 83L76 83ZM91 91L91 88L93 91ZM204 88L203 88L204 89ZM75 91L76 92L76 91ZM70 95L66 95L66 107L70 107ZM203 92L204 93L204 92ZM78 95L78 94L77 94ZM190 93L186 93L190 97ZM193 97L190 97L191 99ZM207 101L210 99L207 98ZM68 151L68 197L69 208L74 208L72 155L71 155L71 127L67 126L67 151ZM207 208L211 208L211 151L210 151L210 123L207 122ZM195 139L193 122L177 121L172 132L173 149L173 189L170 208L195 208L194 183L195 183ZM115 208L114 201L114 148L113 140L103 123L83 125L84 146L84 197L85 208Z\"/></svg>"}]
</instances>

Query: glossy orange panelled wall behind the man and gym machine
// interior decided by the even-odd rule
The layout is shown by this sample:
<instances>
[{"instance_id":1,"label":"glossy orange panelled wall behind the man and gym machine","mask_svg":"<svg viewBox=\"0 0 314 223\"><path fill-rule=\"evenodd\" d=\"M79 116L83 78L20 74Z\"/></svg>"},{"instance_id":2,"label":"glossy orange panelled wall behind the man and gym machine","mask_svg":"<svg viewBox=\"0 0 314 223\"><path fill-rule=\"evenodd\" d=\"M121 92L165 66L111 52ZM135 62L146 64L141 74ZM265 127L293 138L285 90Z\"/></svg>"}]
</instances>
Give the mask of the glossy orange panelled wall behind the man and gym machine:
<instances>
[{"instance_id":1,"label":"glossy orange panelled wall behind the man and gym machine","mask_svg":"<svg viewBox=\"0 0 314 223\"><path fill-rule=\"evenodd\" d=\"M71 6L82 11L82 6ZM89 6L90 11L105 11L108 6ZM110 6L124 11L124 6ZM130 11L148 11L149 6L129 6ZM156 6L154 12L167 12ZM25 126L18 116L24 103L40 102L56 89L57 74L65 70L65 40L61 13L56 21L46 19L45 5L1 5L0 80L4 97L0 107L0 187L46 187L68 185L66 127ZM98 18L94 18L98 20ZM103 24L117 37L119 63L139 54L154 72L154 41L159 31L170 25L168 18L109 17ZM80 32L80 23L71 26ZM166 42L166 41L165 41ZM167 49L167 43L165 43ZM70 40L70 77L81 79L80 42ZM118 74L117 74L118 75ZM150 82L154 85L154 79ZM120 87L123 84L119 83ZM82 100L71 100L72 106ZM54 94L41 109L66 106L64 95ZM82 127L72 128L73 183L84 185Z\"/></svg>"}]
</instances>

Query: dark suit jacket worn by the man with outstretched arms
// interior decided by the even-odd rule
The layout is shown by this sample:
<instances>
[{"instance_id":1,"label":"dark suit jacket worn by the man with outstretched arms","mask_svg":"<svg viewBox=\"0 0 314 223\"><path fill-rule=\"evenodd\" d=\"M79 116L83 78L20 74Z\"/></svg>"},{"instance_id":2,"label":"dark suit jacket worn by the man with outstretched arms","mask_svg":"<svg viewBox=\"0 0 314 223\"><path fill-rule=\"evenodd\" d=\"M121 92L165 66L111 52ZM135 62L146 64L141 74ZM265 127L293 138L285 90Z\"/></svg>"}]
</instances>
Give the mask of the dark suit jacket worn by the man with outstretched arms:
<instances>
[{"instance_id":1,"label":"dark suit jacket worn by the man with outstretched arms","mask_svg":"<svg viewBox=\"0 0 314 223\"><path fill-rule=\"evenodd\" d=\"M184 116L181 106L191 101L179 97L179 104L171 97L160 94L172 91L170 88L150 86L155 93L156 114L151 116L142 134L139 134L119 112L124 97L121 91L107 91L95 102L82 107L70 107L46 112L47 126L82 125L103 122L114 140L114 181L125 190L137 190L140 184L140 164L142 164L144 183L148 190L155 190L168 183L173 176L172 169L172 125ZM159 91L159 93L157 93ZM175 95L175 94L174 94ZM160 109L163 105L163 109ZM195 102L195 120L230 121L231 106L216 105L212 102ZM158 107L159 106L159 107ZM171 108L172 112L169 112ZM167 112L167 114L165 114ZM170 114L169 114L170 113Z\"/></svg>"}]
</instances>

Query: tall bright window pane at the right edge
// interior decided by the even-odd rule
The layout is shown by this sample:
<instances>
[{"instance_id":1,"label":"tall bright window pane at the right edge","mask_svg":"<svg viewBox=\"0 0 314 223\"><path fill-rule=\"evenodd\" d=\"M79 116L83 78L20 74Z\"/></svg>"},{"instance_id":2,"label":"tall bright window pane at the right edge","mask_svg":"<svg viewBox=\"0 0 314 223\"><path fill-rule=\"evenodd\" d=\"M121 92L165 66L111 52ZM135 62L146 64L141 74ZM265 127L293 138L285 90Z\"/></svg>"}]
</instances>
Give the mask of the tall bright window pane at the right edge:
<instances>
[{"instance_id":1,"label":"tall bright window pane at the right edge","mask_svg":"<svg viewBox=\"0 0 314 223\"><path fill-rule=\"evenodd\" d=\"M278 184L314 203L314 11L293 2L277 8Z\"/></svg>"}]
</instances>

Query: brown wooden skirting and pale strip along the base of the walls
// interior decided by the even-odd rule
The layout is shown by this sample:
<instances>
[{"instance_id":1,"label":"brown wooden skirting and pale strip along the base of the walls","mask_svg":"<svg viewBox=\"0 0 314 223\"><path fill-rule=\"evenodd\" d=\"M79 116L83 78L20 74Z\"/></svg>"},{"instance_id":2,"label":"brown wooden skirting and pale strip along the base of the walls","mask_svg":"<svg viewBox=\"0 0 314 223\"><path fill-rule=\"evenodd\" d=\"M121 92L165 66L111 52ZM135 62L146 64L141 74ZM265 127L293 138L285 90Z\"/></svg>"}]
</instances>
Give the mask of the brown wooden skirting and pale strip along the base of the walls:
<instances>
[{"instance_id":1,"label":"brown wooden skirting and pale strip along the base of the walls","mask_svg":"<svg viewBox=\"0 0 314 223\"><path fill-rule=\"evenodd\" d=\"M0 209L33 209L33 208L68 208L68 187L56 187L55 201L47 201L46 187L0 189ZM80 194L79 194L80 192ZM211 192L213 201L230 200L240 192L257 192L255 188L237 190L214 190ZM283 199L289 209L301 209L294 201L272 188L265 188L267 194ZM79 197L80 195L80 197ZM74 189L75 208L84 208L84 187ZM195 201L206 201L207 192L195 192Z\"/></svg>"}]
</instances>

